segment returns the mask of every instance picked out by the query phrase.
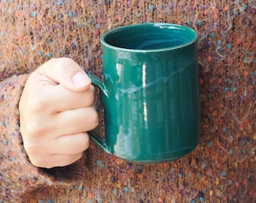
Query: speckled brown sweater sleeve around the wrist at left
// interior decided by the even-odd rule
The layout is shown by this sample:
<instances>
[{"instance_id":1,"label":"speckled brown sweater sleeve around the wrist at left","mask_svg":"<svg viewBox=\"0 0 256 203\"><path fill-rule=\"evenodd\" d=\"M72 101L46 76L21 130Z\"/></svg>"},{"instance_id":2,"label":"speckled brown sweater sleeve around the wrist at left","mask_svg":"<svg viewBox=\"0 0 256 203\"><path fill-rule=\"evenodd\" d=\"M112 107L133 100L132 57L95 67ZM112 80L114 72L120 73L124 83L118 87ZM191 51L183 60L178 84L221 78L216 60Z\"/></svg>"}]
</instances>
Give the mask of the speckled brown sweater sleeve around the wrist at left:
<instances>
[{"instance_id":1,"label":"speckled brown sweater sleeve around the wrist at left","mask_svg":"<svg viewBox=\"0 0 256 203\"><path fill-rule=\"evenodd\" d=\"M18 103L28 77L14 75L0 83L0 199L4 202L53 183L52 176L29 162L23 148Z\"/></svg>"}]
</instances>

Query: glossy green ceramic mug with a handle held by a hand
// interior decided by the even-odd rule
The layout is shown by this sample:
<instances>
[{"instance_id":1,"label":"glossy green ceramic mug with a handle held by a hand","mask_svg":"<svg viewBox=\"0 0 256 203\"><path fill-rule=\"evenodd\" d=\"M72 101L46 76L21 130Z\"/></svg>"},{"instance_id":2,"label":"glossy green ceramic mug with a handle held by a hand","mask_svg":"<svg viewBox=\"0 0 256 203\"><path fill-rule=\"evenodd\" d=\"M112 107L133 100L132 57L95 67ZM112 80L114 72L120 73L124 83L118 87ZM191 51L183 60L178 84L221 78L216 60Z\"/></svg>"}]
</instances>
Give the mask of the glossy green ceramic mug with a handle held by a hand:
<instances>
[{"instance_id":1,"label":"glossy green ceramic mug with a handle held by a hand","mask_svg":"<svg viewBox=\"0 0 256 203\"><path fill-rule=\"evenodd\" d=\"M102 35L102 150L130 162L160 163L197 147L200 99L197 32L169 23L122 26Z\"/></svg>"}]
</instances>

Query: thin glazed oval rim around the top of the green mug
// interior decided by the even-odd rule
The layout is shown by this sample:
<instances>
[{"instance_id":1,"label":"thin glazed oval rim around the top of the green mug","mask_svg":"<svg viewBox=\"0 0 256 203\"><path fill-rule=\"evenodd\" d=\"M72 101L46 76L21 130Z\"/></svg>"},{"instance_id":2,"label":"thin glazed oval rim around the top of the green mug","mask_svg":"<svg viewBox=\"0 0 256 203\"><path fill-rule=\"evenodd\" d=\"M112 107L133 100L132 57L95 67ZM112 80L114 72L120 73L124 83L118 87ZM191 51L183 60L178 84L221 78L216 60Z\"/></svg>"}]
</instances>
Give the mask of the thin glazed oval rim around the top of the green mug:
<instances>
[{"instance_id":1,"label":"thin glazed oval rim around the top of the green mug","mask_svg":"<svg viewBox=\"0 0 256 203\"><path fill-rule=\"evenodd\" d=\"M130 49L130 48L123 48L123 47L116 47L114 45L108 44L108 42L105 41L105 38L108 37L108 35L111 35L113 32L121 31L122 29L127 29L127 28L132 29L132 28L136 28L139 26L158 26L158 27L169 26L170 29L172 29L172 28L183 29L183 30L187 30L187 31L193 33L194 38L190 41L187 41L184 44L180 44L180 45L173 46L173 47L157 48L157 49ZM181 26L178 24L174 24L174 23L138 23L138 24L131 24L129 26L120 26L115 29L108 30L100 38L102 45L105 47L111 48L112 50L123 50L126 52L135 52L135 53L152 53L152 52L161 52L161 51L167 51L167 50L178 50L179 48L187 47L190 44L194 44L195 42L197 42L197 40L198 40L198 34L194 29L191 29L187 26Z\"/></svg>"}]
</instances>

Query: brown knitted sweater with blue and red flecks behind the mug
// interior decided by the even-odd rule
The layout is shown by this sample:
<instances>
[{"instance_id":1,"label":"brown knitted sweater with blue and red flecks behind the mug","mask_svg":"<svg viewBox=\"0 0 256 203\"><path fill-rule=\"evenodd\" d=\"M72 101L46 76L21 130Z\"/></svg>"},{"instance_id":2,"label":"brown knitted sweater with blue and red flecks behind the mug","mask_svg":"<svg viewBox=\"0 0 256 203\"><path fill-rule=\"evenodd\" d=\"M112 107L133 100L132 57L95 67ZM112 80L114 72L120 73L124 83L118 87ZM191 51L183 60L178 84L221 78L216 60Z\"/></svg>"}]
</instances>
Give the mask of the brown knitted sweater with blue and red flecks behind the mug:
<instances>
[{"instance_id":1,"label":"brown knitted sweater with blue and red flecks behind the mug","mask_svg":"<svg viewBox=\"0 0 256 203\"><path fill-rule=\"evenodd\" d=\"M0 202L255 202L255 7L251 0L0 1ZM29 73L65 56L100 76L100 36L145 22L200 35L198 147L174 162L142 165L91 143L72 165L33 166L17 108Z\"/></svg>"}]
</instances>

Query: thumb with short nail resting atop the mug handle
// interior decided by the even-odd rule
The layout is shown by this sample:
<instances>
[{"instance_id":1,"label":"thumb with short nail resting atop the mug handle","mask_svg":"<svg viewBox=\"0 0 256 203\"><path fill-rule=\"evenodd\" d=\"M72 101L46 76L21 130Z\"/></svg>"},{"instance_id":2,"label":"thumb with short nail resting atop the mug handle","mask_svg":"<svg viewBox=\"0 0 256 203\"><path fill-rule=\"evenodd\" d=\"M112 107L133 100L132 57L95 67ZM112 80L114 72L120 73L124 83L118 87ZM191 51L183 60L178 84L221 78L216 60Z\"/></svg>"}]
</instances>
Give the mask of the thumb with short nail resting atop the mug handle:
<instances>
[{"instance_id":1,"label":"thumb with short nail resting atop the mug handle","mask_svg":"<svg viewBox=\"0 0 256 203\"><path fill-rule=\"evenodd\" d=\"M90 77L78 63L69 58L50 59L40 69L54 83L75 92L85 91L91 84Z\"/></svg>"}]
</instances>

